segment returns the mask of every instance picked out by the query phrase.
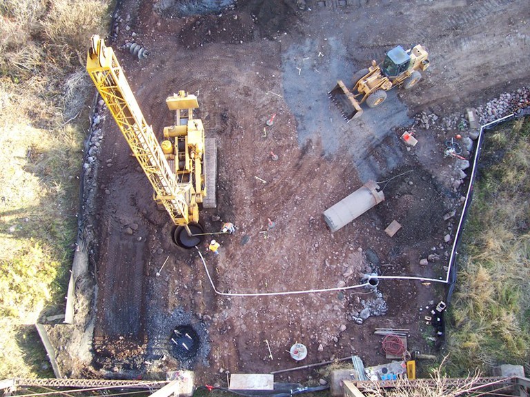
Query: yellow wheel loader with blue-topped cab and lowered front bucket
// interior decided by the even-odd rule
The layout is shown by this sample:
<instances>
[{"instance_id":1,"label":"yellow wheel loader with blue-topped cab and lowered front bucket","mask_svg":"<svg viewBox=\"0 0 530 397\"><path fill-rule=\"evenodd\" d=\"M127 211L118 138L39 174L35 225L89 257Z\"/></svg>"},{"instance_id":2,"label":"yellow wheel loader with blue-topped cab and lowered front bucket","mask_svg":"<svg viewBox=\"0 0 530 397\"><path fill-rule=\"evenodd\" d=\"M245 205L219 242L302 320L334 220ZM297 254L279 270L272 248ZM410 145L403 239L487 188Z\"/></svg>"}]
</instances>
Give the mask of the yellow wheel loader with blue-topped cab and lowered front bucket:
<instances>
[{"instance_id":1,"label":"yellow wheel loader with blue-topped cab and lowered front bucket","mask_svg":"<svg viewBox=\"0 0 530 397\"><path fill-rule=\"evenodd\" d=\"M362 103L366 102L369 108L375 108L385 101L386 91L391 88L397 85L403 85L405 90L413 88L422 78L420 70L429 68L428 57L422 45L415 45L410 50L397 45L386 52L386 57L379 65L372 61L370 68L353 74L351 90L342 80L337 81L329 97L340 108L346 121L357 119L363 112Z\"/></svg>"}]
</instances>

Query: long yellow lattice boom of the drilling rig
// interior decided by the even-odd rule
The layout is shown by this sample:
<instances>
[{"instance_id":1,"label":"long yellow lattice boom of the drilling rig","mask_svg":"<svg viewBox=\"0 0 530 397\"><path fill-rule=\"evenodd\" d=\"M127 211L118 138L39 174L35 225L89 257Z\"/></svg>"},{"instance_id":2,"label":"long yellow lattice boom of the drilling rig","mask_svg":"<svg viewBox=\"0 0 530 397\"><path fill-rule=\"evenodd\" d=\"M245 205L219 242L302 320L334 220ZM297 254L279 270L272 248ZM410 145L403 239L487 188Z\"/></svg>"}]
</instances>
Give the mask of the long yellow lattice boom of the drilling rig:
<instances>
[{"instance_id":1,"label":"long yellow lattice boom of the drilling rig","mask_svg":"<svg viewBox=\"0 0 530 397\"><path fill-rule=\"evenodd\" d=\"M191 185L179 185L170 169L153 128L147 124L114 51L99 36L92 36L86 70L94 81L121 133L144 170L157 201L166 208L175 225L197 222L197 212L188 212Z\"/></svg>"}]
</instances>

